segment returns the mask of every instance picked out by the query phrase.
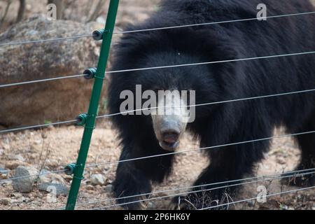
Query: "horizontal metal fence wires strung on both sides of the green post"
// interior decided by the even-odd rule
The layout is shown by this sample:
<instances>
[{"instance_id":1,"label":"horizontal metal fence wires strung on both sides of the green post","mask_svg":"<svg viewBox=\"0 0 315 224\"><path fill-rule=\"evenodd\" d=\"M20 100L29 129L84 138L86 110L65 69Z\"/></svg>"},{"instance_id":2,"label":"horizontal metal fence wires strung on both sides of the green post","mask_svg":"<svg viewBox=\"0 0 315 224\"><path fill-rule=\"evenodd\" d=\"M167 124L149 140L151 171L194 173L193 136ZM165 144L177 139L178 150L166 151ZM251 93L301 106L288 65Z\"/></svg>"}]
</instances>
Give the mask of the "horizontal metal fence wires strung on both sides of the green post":
<instances>
[{"instance_id":1,"label":"horizontal metal fence wires strung on both sides of the green post","mask_svg":"<svg viewBox=\"0 0 315 224\"><path fill-rule=\"evenodd\" d=\"M306 12L306 13L291 13L291 14L286 14L286 15L273 15L273 16L268 16L266 18L270 19L276 19L276 18L288 18L288 17L293 17L293 16L304 16L304 15L314 15L315 11L311 12ZM245 19L239 19L239 20L225 20L225 21L217 21L217 22L206 22L206 23L199 23L199 24L191 24L191 25L178 25L178 26L172 26L172 27L155 27L151 29L137 29L137 30L127 30L127 31L115 31L113 34L132 34L132 33L137 33L137 32L144 32L144 31L159 31L159 30L165 30L165 29L180 29L180 28L187 28L187 27L198 27L198 26L206 26L206 25L221 25L221 24L227 24L227 23L232 23L232 22L248 22L248 21L255 21L258 20L258 18L245 18ZM105 30L106 32L106 30ZM25 45L25 44L36 44L36 43L47 43L47 42L52 42L52 41L68 41L68 40L77 40L79 38L89 38L89 37L94 37L94 34L85 34L85 35L78 35L78 36L67 36L67 37L59 37L59 38L48 38L48 39L40 39L40 40L30 40L30 41L16 41L16 42L8 42L8 43L0 43L0 47L5 47L5 46L13 46L13 45ZM247 58L240 58L240 59L228 59L228 60L221 60L221 61L214 61L214 62L199 62L199 63L190 63L190 64L176 64L176 65L162 65L162 66L154 66L154 67L145 67L145 68L138 68L138 69L124 69L124 70L118 70L118 71L106 71L107 74L113 74L113 73L125 73L125 72L131 72L131 71L146 71L146 70L151 70L151 69L169 69L169 68L178 68L178 67L183 67L183 66L200 66L200 65L209 65L209 64L219 64L219 63L230 63L230 62L246 62L250 60L256 60L256 59L274 59L277 57L297 57L297 56L302 56L302 55L312 55L315 53L315 50L312 51L307 51L307 52L291 52L291 53L286 53L286 54L279 54L279 55L267 55L267 56L260 56L260 57L247 57ZM62 77L55 77L55 78L45 78L41 80L30 80L30 81L25 81L25 82L18 82L18 83L8 83L8 84L1 84L1 87L14 87L14 86L20 86L20 85L27 85L27 84L34 84L34 83L43 83L43 82L48 82L48 81L53 81L53 80L62 80L66 78L80 78L85 75L79 74L79 75L74 75L74 76L62 76ZM240 99L227 99L225 101L221 102L206 102L203 104L195 104L195 105L190 105L189 107L197 107L197 106L210 106L214 104L225 104L225 103L231 103L231 102L241 102L241 101L246 101L246 100L255 100L255 99L267 99L271 97L283 97L283 96L288 96L288 95L293 95L293 94L305 94L305 93L311 93L315 92L314 89L309 89L309 90L298 90L298 91L291 91L291 92L283 92L283 93L274 93L274 94L267 94L267 95L262 95L262 96L255 96L255 97L246 97L246 98L240 98ZM163 108L165 108L164 106ZM150 109L139 109L139 110L132 110L132 111L127 111L123 113L113 113L113 114L107 114L104 116L97 116L97 118L110 118L113 116L119 116L119 115L125 115L126 113L132 113L132 112L137 112L137 111L144 111L144 110L151 110L151 109L160 109L161 107L154 107ZM26 126L26 127L16 127L8 130L0 130L0 134L5 134L8 132L18 132L18 131L23 131L23 130L29 130L29 129L37 129L41 127L49 127L49 126L55 126L55 125L68 125L68 124L73 124L77 123L78 120L67 120L67 121L61 121L61 122L56 122L56 123L49 123L49 124L43 124L43 125L31 125L31 126ZM217 146L209 146L209 147L204 147L204 148L196 148L196 149L186 149L183 151L179 152L174 152L174 153L165 153L165 154L160 154L160 155L150 155L142 158L132 158L130 160L118 160L118 161L113 161L113 162L101 162L101 163L95 163L95 164L90 164L87 165L86 168L91 168L91 167L99 167L102 165L113 165L113 164L118 164L120 162L131 162L135 160L146 160L149 158L156 158L156 157L161 157L161 156L167 156L167 155L178 155L178 154L183 154L183 153L193 153L197 151L204 151L204 150L210 150L210 149L218 149L218 148L224 148L227 146L235 146L239 144L249 144L249 143L255 143L258 141L269 141L272 139L279 139L279 138L284 138L284 137L296 137L299 135L304 135L304 134L314 134L314 131L309 131L309 132L299 132L299 133L293 133L293 134L284 134L280 136L275 136L275 137L265 137L265 138L260 138L260 139L251 139L248 141L239 141L235 143L228 143L228 144L221 144ZM29 176L19 176L19 177L13 177L5 180L0 180L0 183L6 182L6 181L14 181L17 179L25 179L27 177L31 176L45 176L48 174L56 174L56 173L62 173L66 172L67 169L62 169L62 170L57 170L57 171L52 171L52 172L43 172L38 175L29 175ZM284 174L288 174L286 176L283 176ZM179 195L186 195L186 194L192 194L192 193L200 193L202 191L209 191L209 190L216 190L220 188L227 188L231 186L243 186L249 183L258 183L261 181L272 181L275 179L283 179L283 178L296 178L297 176L305 176L305 175L313 175L315 174L315 168L314 169L304 169L304 170L297 170L294 172L285 172L281 174L274 174L271 176L260 176L260 177L251 177L251 178L245 178L245 179L238 179L238 180L232 180L232 181L224 181L224 182L218 182L218 183L207 183L202 186L190 186L190 187L185 187L185 188L174 188L174 189L169 189L169 190L162 190L158 192L153 192L153 193L146 193L146 194L140 194L140 195L130 195L127 197L118 197L118 198L106 198L104 200L96 200L93 202L85 202L85 203L80 203L77 204L77 207L84 207L92 204L99 204L103 202L112 202L116 200L124 200L124 199L130 199L130 198L137 198L137 197L148 197L144 200L134 200L132 202L126 202L126 203L120 203L120 204L113 204L113 205L108 205L106 207L97 207L94 209L109 209L112 207L118 207L118 206L123 206L127 204L133 204L133 203L139 203L139 202L148 202L150 200L158 200L158 199L163 199L166 197L175 197ZM246 181L246 182L242 182ZM242 182L242 183L238 183ZM234 183L230 185L230 183ZM201 189L201 190L190 190L186 191L183 193L177 193L177 194L172 194L172 195L166 195L162 197L151 197L151 195L156 195L160 193L170 193L173 191L177 190L188 190L190 188L204 188L204 187L209 187L209 186L216 186L216 185L223 185L219 186L216 188L207 188L207 189ZM315 186L309 187L309 188L300 188L296 190L288 190L285 192L281 193L274 193L267 195L266 197L272 197L276 195L282 195L286 193L294 193L300 190L309 190L315 188ZM237 204L240 202L246 202L249 200L255 200L255 198L251 199L246 199L246 200L239 200L237 202L229 202L226 204L218 204L214 207L205 207L203 209L214 209L217 207L223 207L223 206L228 206L230 204ZM64 209L64 208L59 208L59 209Z\"/></svg>"}]
</instances>

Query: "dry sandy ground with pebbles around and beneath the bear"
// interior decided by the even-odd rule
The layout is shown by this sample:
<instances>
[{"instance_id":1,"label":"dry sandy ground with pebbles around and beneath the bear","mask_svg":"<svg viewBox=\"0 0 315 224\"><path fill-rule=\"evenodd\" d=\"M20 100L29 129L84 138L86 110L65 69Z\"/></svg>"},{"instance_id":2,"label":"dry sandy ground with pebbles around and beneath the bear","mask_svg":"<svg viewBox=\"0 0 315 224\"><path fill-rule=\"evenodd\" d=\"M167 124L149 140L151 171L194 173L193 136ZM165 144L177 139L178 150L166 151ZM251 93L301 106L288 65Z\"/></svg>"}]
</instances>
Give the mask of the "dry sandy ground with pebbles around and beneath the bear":
<instances>
[{"instance_id":1,"label":"dry sandy ground with pebbles around and beneath the bear","mask_svg":"<svg viewBox=\"0 0 315 224\"><path fill-rule=\"evenodd\" d=\"M81 1L80 1L81 2ZM144 20L148 14L155 10L153 0L125 0L122 1L118 24L125 22L137 22ZM29 14L42 12L43 6L38 1L29 1ZM15 15L11 15L14 18ZM9 17L10 18L10 17ZM82 137L81 127L50 127L45 130L27 130L0 135L0 167L9 170L8 174L0 176L0 209L61 209L66 203L65 196L57 197L57 202L48 202L48 193L36 189L31 193L22 194L13 190L12 182L6 181L13 176L15 168L19 165L36 167L48 171L64 169L64 165L76 161L78 148ZM276 134L281 134L277 132ZM244 139L246 140L246 139ZM181 142L180 150L198 148L198 145L188 135ZM93 165L102 162L115 162L118 160L120 147L116 141L116 133L111 129L109 123L103 121L94 131L90 153L87 164ZM299 151L290 138L275 139L272 142L272 149L266 155L266 159L257 165L257 175L279 174L292 170L297 164ZM155 186L154 191L169 190L172 188L183 188L191 186L193 181L207 166L207 159L197 151L194 153L180 154L176 156L174 171L172 175L160 186ZM96 209L114 204L110 202L95 202L112 198L111 182L115 177L116 164L99 165L89 167L85 170L85 179L80 188L77 209ZM94 186L91 183L93 174L102 174L106 181L103 186ZM44 181L52 183L63 183L70 186L71 176L64 173L48 174ZM287 186L282 186L279 180L264 183L246 185L235 201L252 198L257 195L258 185L264 185L268 193L279 193L285 190L293 190ZM167 193L176 194L177 191ZM152 195L151 197L164 196L165 194ZM3 200L5 199L5 200ZM149 209L166 209L170 199L152 200L148 203ZM230 209L315 209L315 190L304 190L297 193L290 193L282 196L269 197L267 203L259 204L253 200L248 202L230 205ZM111 209L119 209L112 207Z\"/></svg>"}]
</instances>

